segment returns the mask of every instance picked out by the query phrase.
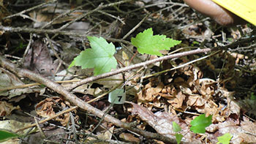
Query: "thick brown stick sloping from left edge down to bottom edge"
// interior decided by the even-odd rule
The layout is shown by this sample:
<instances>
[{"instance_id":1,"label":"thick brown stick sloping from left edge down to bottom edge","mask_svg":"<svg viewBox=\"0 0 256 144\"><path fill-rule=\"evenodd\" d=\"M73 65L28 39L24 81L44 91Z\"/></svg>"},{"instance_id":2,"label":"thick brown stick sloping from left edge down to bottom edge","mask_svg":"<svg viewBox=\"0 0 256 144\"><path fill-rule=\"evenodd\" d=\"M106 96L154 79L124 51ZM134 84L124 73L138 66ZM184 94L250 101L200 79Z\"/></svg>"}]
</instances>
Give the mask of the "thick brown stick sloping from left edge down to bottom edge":
<instances>
[{"instance_id":1,"label":"thick brown stick sloping from left edge down to bottom edge","mask_svg":"<svg viewBox=\"0 0 256 144\"><path fill-rule=\"evenodd\" d=\"M0 56L0 65L1 67L4 67L5 69L10 70L11 72L14 72L19 77L28 77L31 80L37 81L37 83L42 83L48 88L51 88L53 91L56 91L56 93L61 94L62 96L64 96L65 99L69 100L69 102L71 102L73 105L76 105L75 107L72 107L72 110L75 110L76 108L80 107L81 109L86 110L89 113L93 113L94 115L97 115L99 118L102 118L102 116L105 115L105 113L103 113L101 110L95 107L92 107L88 103L84 102L82 99L79 99L77 96L75 96L75 94L72 94L69 91L65 90L65 88L63 86L60 86L58 83L54 83L52 80L42 77L41 75L37 75L36 73L31 72L28 69L20 69L16 67L15 64L12 64L10 61L4 58L3 56ZM69 111L71 110L69 109ZM66 113L66 112L67 111L65 110L63 113ZM57 116L59 115L55 115L55 118ZM45 121L48 121L48 120L50 120L50 118L45 119ZM132 132L136 132L140 135L143 135L148 139L161 140L162 142L165 142L165 143L176 143L176 140L173 140L170 137L165 137L162 134L146 132L146 131L143 131L142 129L134 128L130 124L121 122L117 118L113 118L113 116L108 114L105 115L104 120L111 122L116 126L131 130ZM43 122L40 121L39 124ZM33 124L33 126L36 126L36 124ZM27 129L27 127L23 129ZM23 129L18 129L16 132L20 132Z\"/></svg>"}]
</instances>

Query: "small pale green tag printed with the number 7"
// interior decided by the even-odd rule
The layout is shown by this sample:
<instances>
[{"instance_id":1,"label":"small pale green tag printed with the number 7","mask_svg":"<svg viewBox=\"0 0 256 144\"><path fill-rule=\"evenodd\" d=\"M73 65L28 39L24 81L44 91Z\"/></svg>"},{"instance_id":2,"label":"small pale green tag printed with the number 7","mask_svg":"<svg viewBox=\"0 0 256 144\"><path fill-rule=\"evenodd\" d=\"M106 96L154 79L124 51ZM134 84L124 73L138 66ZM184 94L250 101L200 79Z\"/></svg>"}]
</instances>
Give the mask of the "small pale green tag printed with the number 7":
<instances>
[{"instance_id":1,"label":"small pale green tag printed with the number 7","mask_svg":"<svg viewBox=\"0 0 256 144\"><path fill-rule=\"evenodd\" d=\"M124 92L124 89L116 89L112 92L110 92L108 96L108 102L114 103L114 104L124 104L126 100L126 94Z\"/></svg>"}]
</instances>

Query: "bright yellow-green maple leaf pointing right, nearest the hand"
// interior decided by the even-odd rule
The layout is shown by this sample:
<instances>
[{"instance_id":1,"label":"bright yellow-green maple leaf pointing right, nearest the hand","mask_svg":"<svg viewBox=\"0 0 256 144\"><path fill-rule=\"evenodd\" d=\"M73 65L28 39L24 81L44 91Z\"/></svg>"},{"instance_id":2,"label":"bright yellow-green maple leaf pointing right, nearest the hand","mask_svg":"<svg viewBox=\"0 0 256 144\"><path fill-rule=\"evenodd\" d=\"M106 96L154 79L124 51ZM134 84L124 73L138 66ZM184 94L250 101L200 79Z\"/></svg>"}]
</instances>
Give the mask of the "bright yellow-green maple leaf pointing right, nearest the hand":
<instances>
[{"instance_id":1,"label":"bright yellow-green maple leaf pointing right, nearest the hand","mask_svg":"<svg viewBox=\"0 0 256 144\"><path fill-rule=\"evenodd\" d=\"M152 29L146 29L143 32L132 37L132 45L138 48L139 53L162 56L159 50L170 50L171 47L178 45L181 41L166 38L165 35L154 35Z\"/></svg>"}]
</instances>

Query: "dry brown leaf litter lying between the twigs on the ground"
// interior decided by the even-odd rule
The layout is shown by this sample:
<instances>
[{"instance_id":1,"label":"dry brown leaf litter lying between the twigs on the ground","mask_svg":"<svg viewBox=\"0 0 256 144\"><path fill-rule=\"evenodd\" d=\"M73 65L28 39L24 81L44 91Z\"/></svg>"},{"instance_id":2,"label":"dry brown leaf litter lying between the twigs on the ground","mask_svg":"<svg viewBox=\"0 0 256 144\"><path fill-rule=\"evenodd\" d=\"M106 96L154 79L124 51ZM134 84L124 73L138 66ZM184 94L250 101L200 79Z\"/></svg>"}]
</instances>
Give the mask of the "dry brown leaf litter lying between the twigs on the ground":
<instances>
[{"instance_id":1,"label":"dry brown leaf litter lying between the twigs on the ground","mask_svg":"<svg viewBox=\"0 0 256 144\"><path fill-rule=\"evenodd\" d=\"M157 4L158 2L159 1L137 1L135 4L127 3L129 7L127 7L127 5L121 5L120 9L121 11L132 11L130 10L130 7L138 7L138 5L140 5L138 8L141 8L148 6L148 4ZM174 3L174 5L175 4L182 3L177 2ZM72 2L68 5L70 5L70 7L78 6ZM92 6L94 6L94 4L92 4ZM92 14L91 17L83 18L79 23L73 23L65 30L75 31L77 34L96 34L97 36L103 35L104 37L115 37L116 39L121 39L121 37L127 34L130 29L139 23L140 19L142 19L140 15L143 15L145 12L162 10L162 7L168 6L172 6L172 4L157 4L157 7L151 8L144 7L144 10L135 11L129 16L121 15L120 13L121 19L117 20L113 20L113 16L110 17L108 15L106 17L105 14ZM50 22L52 18L56 18L56 16L61 15L61 10L66 11L69 10L70 7L67 7L67 4L62 1L60 5L56 7L56 15L53 15L53 17L49 16L54 10L51 6L45 7L42 11L29 12L29 16L37 20L37 22L33 23L32 27L38 29L41 26L44 26L45 23ZM241 34L241 31L244 32L244 34L249 34L251 31L248 26L241 26L240 31L233 29L230 30L227 28L220 31L219 28L214 25L214 22L209 20L206 20L204 23L197 22L197 18L195 18L195 15L191 15L193 12L189 10L187 6L181 6L183 12L179 12L178 7L180 6L176 5L176 7L170 7L169 9L166 9L166 11L162 10L154 13L154 15L146 19L144 23L129 36L129 39L131 37L135 37L136 34L139 34L139 32L144 29L152 27L154 32L156 30L157 34L165 34L167 37L182 40L182 46L173 48L173 50L177 50L181 47L200 47L200 44L203 42L206 42L206 47L227 45L232 42L236 42L236 39L244 37ZM10 5L9 8L13 7ZM91 6L87 8L91 10ZM116 10L117 12L120 12L118 11L118 8ZM37 13L37 17L34 17L34 13ZM67 17L54 20L49 29L52 27L63 26L64 23L68 23L82 14L83 10L81 10L81 12L71 12L70 15L66 15ZM102 22L99 19L102 20ZM121 25L121 20L124 20L126 24ZM187 26L193 21L196 24ZM4 23L7 22L8 21L5 21ZM170 25L167 23L172 24ZM211 29L209 29L209 23L211 23ZM24 26L26 25L26 23L23 24ZM79 26L81 25L83 25L83 29L80 29ZM96 27L91 29L94 25ZM100 26L97 27L98 25ZM17 23L12 23L12 26L17 26ZM182 26L185 26L184 29L176 29L177 27L181 28ZM0 34L4 34L4 32ZM227 35L225 36L225 34ZM7 47L9 45L8 42L12 42L12 47L15 47L17 46L15 43L18 43L20 40L14 39L13 35L12 37L4 35L4 37L6 37L7 41L4 45L7 45ZM26 35L23 35L23 37L29 39ZM37 34L37 37L45 36L43 34ZM37 38L34 37L34 39ZM127 38L127 40L129 39ZM46 41L48 40L46 39ZM74 35L64 35L62 37L52 39L52 41L56 42L53 44L53 47L56 49L59 56L61 56L61 58L68 64L72 61L72 58L80 53L80 50L89 48L89 42L87 42L86 38L76 37ZM27 40L26 42L29 41ZM67 48L61 48L58 44ZM136 48L132 45L124 45L124 43L121 44L119 42L113 42L113 45L124 46L124 48L117 52L121 54L116 54L118 56L115 56L116 58L119 58L120 61L124 61L124 66L138 63L138 61L146 61L148 58L147 55L139 55L135 56L132 61L127 61L127 59L132 58ZM189 64L180 69L175 69L156 77L146 78L143 80L140 79L145 74L151 75L154 72L171 69L199 58L202 55L186 56L172 59L170 61L162 61L159 64L147 67L144 72L136 73L135 71L131 71L126 72L125 75L109 77L109 81L105 80L104 82L99 81L89 83L76 88L76 91L73 91L73 93L75 93L80 99L83 99L84 102L88 102L99 94L103 94L105 91L109 91L110 88L117 85L116 80L119 80L119 83L124 77L128 78L131 75L135 75L126 83L126 86L128 87L127 94L129 94L127 101L130 101L128 102L129 104L122 105L121 107L113 107L108 111L110 105L108 101L103 98L99 99L97 102L93 102L91 105L98 107L100 110L108 111L111 115L116 115L116 117L122 121L137 121L137 127L140 129L157 132L158 134L165 135L172 139L176 138L176 132L173 131L172 127L173 121L175 121L178 126L181 126L180 134L183 134L184 136L181 139L183 143L217 143L218 137L227 133L232 135L230 140L231 143L255 143L255 121L252 121L253 118L255 119L256 115L255 99L253 99L254 93L251 92L255 91L255 73L253 73L255 66L253 65L253 62L250 62L255 61L255 59L253 58L253 49L246 49L246 47L249 46L253 47L254 45L245 43L244 45L240 45L241 48L244 48L244 51L239 50L239 48L235 48L236 51L228 50L228 53L225 53L225 50L223 50L221 53L211 56L210 58L206 58L203 61L198 61L195 64ZM75 49L68 51L67 49L69 48ZM129 50L126 48L129 48ZM189 50L189 48L187 48L187 50ZM24 49L22 51L24 52ZM74 51L76 53L73 53ZM170 51L166 50L165 54L171 51L172 49ZM15 53L15 50L12 50L12 48L9 50L0 50L0 53L14 53L14 56L22 57L20 53ZM53 75L55 75L55 72L59 72L63 69L58 68L60 61L53 54L53 50L50 50L50 46L47 42L42 42L42 39L35 40L32 43L29 52L24 57L25 62L23 65L26 68L41 75L50 76L50 78L54 77ZM151 56L151 58L155 57ZM20 61L15 62L19 63ZM244 67L247 65L249 68ZM118 67L124 66L120 65ZM12 86L20 85L23 86L24 83L31 83L30 81L20 80L18 77L10 74L10 72L7 72L2 68L0 70L1 83L7 83L1 84L1 88L10 88ZM71 77L69 75L67 80L81 80L84 77L90 77L93 75L91 69L80 70L77 67L70 69L69 74L70 73ZM67 78L67 75L61 74L60 77ZM73 77L75 78L73 79ZM62 83L62 85L68 87L72 85L71 83ZM238 88L244 88L246 91L240 91ZM63 99L61 95L55 94L54 91L51 91L49 88L45 88L44 86L15 88L0 92L2 96L0 112L3 116L12 115L17 113L17 111L21 111L28 112L31 115L37 115L39 118L49 118L56 115L56 113L61 112L61 110L71 107L71 104L69 104L67 100ZM24 100L26 100L26 102L28 102L28 104L33 108L30 107L29 110L26 110L25 107L20 104L23 103ZM190 122L195 119L197 115L202 113L205 113L206 116L212 115L212 124L206 128L206 133L195 134L189 131ZM73 123L71 122L72 115L75 115ZM80 130L80 133L77 135L64 133L64 138L68 138L67 136L69 136L70 139L65 141L69 141L69 143L73 143L75 140L82 141L83 138L86 137L83 136L85 133L90 134L86 142L94 142L94 140L97 139L108 142L111 142L110 140L119 140L119 142L124 140L125 142L132 143L152 142L138 134L129 132L125 129L120 129L118 126L113 126L113 124L105 121L97 126L99 122L100 119L95 115L80 112L80 110L78 110L61 115L58 118L53 119L53 121L50 121L50 123L45 124L46 126L40 126L43 128L43 131L48 130L48 132L45 132L48 136L50 136L50 134L54 134L53 129L56 129L58 126L59 128L56 129L56 132L59 134L64 133L64 128L61 128L61 126L67 126L69 132L72 132L72 130L74 131L74 129ZM23 123L21 123L21 125L22 124ZM74 128L74 126L76 127ZM22 126L18 127L21 128ZM14 128L10 129L15 130ZM40 137L39 135L37 135L37 137ZM31 134L31 137L32 136L33 135ZM49 140L53 141L58 141L57 139L60 143L64 142L61 141L60 137L57 137L56 139L53 137L51 139L49 138ZM28 138L27 140L32 143L35 139ZM159 141L154 140L154 143L157 142L160 143Z\"/></svg>"}]
</instances>

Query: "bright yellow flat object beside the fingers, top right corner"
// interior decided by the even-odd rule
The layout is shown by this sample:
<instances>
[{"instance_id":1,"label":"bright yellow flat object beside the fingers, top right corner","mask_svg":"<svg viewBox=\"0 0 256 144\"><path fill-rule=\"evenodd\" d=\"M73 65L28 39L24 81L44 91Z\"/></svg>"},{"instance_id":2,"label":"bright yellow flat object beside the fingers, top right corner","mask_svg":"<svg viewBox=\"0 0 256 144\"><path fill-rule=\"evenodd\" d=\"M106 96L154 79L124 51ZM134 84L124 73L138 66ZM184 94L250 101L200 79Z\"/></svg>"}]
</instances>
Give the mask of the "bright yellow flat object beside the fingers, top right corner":
<instances>
[{"instance_id":1,"label":"bright yellow flat object beside the fingers, top right corner","mask_svg":"<svg viewBox=\"0 0 256 144\"><path fill-rule=\"evenodd\" d=\"M256 26L256 0L212 0Z\"/></svg>"}]
</instances>

